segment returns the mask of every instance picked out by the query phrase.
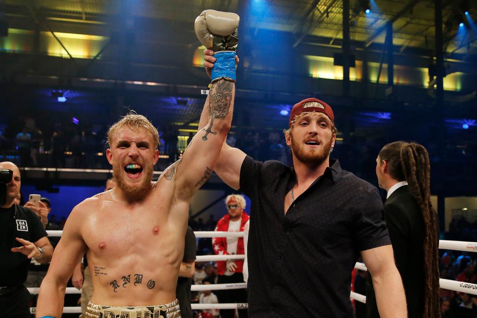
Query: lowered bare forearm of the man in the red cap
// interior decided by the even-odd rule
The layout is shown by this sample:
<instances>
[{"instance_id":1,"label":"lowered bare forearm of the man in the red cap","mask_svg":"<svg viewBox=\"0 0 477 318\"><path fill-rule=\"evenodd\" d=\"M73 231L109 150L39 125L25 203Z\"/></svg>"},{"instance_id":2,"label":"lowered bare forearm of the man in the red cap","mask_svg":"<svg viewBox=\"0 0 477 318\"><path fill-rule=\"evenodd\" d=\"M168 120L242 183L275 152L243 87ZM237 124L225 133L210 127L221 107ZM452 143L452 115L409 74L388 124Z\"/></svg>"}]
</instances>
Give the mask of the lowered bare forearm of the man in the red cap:
<instances>
[{"instance_id":1,"label":"lowered bare forearm of the man in the red cap","mask_svg":"<svg viewBox=\"0 0 477 318\"><path fill-rule=\"evenodd\" d=\"M392 245L361 251L361 256L373 277L379 315L382 318L407 318L406 297L394 263Z\"/></svg>"}]
</instances>

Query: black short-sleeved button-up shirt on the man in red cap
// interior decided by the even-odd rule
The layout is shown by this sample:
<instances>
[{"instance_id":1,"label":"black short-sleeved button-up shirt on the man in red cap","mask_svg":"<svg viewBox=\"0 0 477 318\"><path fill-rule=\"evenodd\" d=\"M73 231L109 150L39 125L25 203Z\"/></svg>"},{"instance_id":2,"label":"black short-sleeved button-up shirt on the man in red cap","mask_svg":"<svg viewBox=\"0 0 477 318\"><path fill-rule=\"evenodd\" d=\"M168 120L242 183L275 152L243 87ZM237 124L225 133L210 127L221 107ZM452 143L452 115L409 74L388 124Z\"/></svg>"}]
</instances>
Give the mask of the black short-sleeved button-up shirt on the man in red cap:
<instances>
[{"instance_id":1,"label":"black short-sleeved button-up shirt on the man in red cap","mask_svg":"<svg viewBox=\"0 0 477 318\"><path fill-rule=\"evenodd\" d=\"M295 182L294 169L279 161L242 163L240 189L252 202L249 317L353 317L360 251L391 243L378 189L330 160L285 215Z\"/></svg>"}]
</instances>

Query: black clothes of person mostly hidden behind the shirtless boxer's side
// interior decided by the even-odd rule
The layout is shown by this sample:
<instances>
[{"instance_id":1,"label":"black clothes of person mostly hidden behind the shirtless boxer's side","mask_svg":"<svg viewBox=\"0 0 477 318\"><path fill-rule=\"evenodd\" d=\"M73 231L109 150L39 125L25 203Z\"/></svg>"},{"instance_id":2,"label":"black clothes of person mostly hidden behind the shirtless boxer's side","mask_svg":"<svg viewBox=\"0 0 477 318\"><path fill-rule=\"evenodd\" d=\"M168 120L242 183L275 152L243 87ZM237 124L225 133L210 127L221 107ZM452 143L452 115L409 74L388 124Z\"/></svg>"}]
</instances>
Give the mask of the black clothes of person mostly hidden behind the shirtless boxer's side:
<instances>
[{"instance_id":1,"label":"black clothes of person mostly hidden behind the shirtless boxer's side","mask_svg":"<svg viewBox=\"0 0 477 318\"><path fill-rule=\"evenodd\" d=\"M197 242L195 241L194 231L187 227L185 234L185 247L183 262L190 262L195 260L197 250ZM192 309L190 308L190 287L192 286L192 278L179 277L177 279L177 288L175 290L175 297L179 301L180 315L182 318L192 318Z\"/></svg>"}]
</instances>

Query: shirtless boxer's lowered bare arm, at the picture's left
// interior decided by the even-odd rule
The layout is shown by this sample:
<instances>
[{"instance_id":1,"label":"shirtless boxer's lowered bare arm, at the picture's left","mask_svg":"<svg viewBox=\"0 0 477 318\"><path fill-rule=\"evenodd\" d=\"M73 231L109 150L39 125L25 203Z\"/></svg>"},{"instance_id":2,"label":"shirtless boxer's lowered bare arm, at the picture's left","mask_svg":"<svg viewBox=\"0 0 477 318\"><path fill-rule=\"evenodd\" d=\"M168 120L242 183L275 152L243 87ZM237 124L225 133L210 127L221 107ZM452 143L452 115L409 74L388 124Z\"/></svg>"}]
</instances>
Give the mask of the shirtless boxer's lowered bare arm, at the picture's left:
<instances>
[{"instance_id":1,"label":"shirtless boxer's lowered bare arm, at the picture's left","mask_svg":"<svg viewBox=\"0 0 477 318\"><path fill-rule=\"evenodd\" d=\"M84 219L81 212L81 208L77 206L68 217L48 273L41 283L36 317L62 316L66 284L86 250L80 234L80 225Z\"/></svg>"}]
</instances>

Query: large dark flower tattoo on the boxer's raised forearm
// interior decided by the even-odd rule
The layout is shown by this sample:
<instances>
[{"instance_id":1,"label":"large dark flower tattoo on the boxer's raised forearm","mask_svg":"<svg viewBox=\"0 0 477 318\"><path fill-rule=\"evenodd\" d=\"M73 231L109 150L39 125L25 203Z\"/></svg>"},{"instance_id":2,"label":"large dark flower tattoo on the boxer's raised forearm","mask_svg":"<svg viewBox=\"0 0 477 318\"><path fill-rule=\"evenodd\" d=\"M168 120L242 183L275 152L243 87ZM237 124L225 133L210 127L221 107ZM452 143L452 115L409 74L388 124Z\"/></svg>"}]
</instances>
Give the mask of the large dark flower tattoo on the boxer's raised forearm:
<instances>
[{"instance_id":1,"label":"large dark flower tattoo on the boxer's raised forearm","mask_svg":"<svg viewBox=\"0 0 477 318\"><path fill-rule=\"evenodd\" d=\"M209 125L208 128L203 128L205 135L202 140L207 141L207 135L217 135L216 131L212 131L214 119L225 119L229 114L230 104L232 102L232 90L234 84L228 80L219 80L212 84L211 93L209 94Z\"/></svg>"}]
</instances>

